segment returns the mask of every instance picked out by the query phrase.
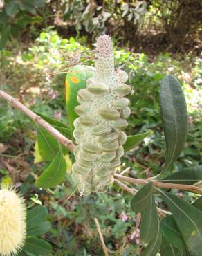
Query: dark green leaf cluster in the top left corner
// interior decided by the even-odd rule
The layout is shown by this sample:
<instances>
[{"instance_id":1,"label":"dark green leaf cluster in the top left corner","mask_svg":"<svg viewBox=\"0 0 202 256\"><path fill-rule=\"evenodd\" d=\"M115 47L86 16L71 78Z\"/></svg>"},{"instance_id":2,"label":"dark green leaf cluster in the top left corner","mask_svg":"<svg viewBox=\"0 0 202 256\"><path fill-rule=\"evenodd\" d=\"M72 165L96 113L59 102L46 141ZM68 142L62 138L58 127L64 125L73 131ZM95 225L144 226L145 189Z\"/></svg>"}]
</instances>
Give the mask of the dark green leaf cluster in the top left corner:
<instances>
[{"instance_id":1,"label":"dark green leaf cluster in the top left corner","mask_svg":"<svg viewBox=\"0 0 202 256\"><path fill-rule=\"evenodd\" d=\"M37 16L37 8L43 7L44 0L3 1L3 5L0 7L0 51L9 38L19 38L28 24L42 22L43 18Z\"/></svg>"}]
</instances>

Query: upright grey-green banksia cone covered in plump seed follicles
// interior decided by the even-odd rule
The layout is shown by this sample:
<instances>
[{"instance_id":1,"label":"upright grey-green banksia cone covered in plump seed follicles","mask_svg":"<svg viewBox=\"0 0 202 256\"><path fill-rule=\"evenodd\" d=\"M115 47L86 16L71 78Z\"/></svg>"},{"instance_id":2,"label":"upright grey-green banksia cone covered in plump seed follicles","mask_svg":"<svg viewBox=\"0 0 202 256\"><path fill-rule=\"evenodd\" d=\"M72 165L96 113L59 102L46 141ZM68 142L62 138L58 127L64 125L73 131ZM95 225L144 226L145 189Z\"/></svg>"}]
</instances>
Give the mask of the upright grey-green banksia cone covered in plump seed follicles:
<instances>
[{"instance_id":1,"label":"upright grey-green banksia cone covered in plump seed follicles","mask_svg":"<svg viewBox=\"0 0 202 256\"><path fill-rule=\"evenodd\" d=\"M113 47L109 36L97 41L95 75L80 89L75 112L74 137L76 143L72 178L80 194L105 192L113 183L113 174L124 154L122 145L127 136L122 129L128 125L129 100L125 98L131 86L125 84L125 71L115 71Z\"/></svg>"}]
</instances>

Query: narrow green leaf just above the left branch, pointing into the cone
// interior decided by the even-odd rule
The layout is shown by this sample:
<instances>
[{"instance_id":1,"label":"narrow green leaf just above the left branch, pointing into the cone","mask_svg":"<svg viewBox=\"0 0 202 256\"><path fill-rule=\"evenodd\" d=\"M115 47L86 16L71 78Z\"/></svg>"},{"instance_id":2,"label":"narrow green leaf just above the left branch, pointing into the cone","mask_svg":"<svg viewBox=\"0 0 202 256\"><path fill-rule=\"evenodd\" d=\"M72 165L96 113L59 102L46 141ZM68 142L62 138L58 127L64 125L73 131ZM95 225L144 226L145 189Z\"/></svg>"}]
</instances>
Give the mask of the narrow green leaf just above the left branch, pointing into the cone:
<instances>
[{"instance_id":1,"label":"narrow green leaf just above the left branch, pointing into the cone","mask_svg":"<svg viewBox=\"0 0 202 256\"><path fill-rule=\"evenodd\" d=\"M57 131L59 131L61 134L66 136L66 138L71 139L71 130L68 126L66 126L63 122L60 122L59 120L55 118L49 118L48 116L42 115L42 113L36 112L35 113L38 116L41 116L46 122L48 122L50 125L52 125Z\"/></svg>"}]
</instances>

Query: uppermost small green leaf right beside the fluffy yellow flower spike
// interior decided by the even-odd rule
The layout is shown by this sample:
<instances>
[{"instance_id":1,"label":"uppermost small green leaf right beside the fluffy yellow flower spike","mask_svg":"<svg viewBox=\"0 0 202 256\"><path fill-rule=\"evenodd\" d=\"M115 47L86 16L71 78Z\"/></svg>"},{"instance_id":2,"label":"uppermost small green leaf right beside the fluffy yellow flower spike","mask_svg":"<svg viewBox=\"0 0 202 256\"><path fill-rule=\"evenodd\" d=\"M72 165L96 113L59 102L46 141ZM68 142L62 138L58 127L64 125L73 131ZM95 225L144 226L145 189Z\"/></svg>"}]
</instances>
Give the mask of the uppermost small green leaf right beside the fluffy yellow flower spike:
<instances>
[{"instance_id":1,"label":"uppermost small green leaf right beside the fluffy yellow flower spike","mask_svg":"<svg viewBox=\"0 0 202 256\"><path fill-rule=\"evenodd\" d=\"M28 211L27 227L31 228L33 225L41 223L48 216L48 210L44 205L38 205L32 210Z\"/></svg>"}]
</instances>

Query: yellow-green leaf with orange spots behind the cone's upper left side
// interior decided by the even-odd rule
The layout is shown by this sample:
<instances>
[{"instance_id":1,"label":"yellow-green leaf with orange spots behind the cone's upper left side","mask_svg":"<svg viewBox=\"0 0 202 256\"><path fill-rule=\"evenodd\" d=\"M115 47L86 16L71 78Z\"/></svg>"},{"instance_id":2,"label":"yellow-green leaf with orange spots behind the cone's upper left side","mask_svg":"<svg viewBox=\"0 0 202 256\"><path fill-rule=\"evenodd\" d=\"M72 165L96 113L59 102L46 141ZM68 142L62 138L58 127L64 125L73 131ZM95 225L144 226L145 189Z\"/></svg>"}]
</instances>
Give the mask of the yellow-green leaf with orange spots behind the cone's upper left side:
<instances>
[{"instance_id":1,"label":"yellow-green leaf with orange spots behind the cone's upper left side","mask_svg":"<svg viewBox=\"0 0 202 256\"><path fill-rule=\"evenodd\" d=\"M94 75L91 66L74 66L69 70L65 80L66 111L73 133L73 121L77 118L74 108L77 106L77 91L86 87L86 80Z\"/></svg>"}]
</instances>

